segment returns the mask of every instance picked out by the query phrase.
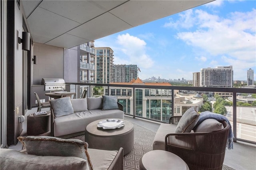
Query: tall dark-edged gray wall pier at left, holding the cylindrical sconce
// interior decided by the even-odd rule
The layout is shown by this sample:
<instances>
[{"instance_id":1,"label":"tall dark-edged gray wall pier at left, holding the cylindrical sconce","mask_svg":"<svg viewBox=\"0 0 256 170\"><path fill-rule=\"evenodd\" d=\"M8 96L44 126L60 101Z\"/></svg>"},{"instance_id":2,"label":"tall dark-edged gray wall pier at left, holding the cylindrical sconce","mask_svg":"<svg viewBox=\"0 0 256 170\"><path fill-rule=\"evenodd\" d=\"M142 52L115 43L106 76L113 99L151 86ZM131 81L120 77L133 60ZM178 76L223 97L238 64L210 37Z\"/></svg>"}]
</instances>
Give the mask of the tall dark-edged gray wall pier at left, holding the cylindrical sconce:
<instances>
[{"instance_id":1,"label":"tall dark-edged gray wall pier at left, holding the cylindrical sconce","mask_svg":"<svg viewBox=\"0 0 256 170\"><path fill-rule=\"evenodd\" d=\"M7 2L7 145L18 142L17 137L22 132L22 123L18 117L22 115L22 4L20 8L16 1ZM2 57L2 56L1 56ZM5 113L4 113L5 114Z\"/></svg>"}]
</instances>

